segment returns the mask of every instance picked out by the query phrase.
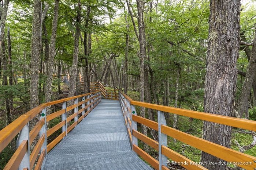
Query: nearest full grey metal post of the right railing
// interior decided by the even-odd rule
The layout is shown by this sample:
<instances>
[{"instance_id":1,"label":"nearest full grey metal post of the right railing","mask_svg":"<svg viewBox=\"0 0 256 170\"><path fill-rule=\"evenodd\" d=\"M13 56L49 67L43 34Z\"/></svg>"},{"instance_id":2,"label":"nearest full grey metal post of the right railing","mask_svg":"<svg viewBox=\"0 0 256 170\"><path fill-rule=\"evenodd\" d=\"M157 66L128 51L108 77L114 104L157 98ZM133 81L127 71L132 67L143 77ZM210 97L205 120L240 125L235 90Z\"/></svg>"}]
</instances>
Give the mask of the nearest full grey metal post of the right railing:
<instances>
[{"instance_id":1,"label":"nearest full grey metal post of the right railing","mask_svg":"<svg viewBox=\"0 0 256 170\"><path fill-rule=\"evenodd\" d=\"M161 133L161 125L166 125L166 120L163 111L158 111L158 142L159 142L159 170L162 165L166 166L167 157L162 154L162 145L167 146L167 135Z\"/></svg>"}]
</instances>

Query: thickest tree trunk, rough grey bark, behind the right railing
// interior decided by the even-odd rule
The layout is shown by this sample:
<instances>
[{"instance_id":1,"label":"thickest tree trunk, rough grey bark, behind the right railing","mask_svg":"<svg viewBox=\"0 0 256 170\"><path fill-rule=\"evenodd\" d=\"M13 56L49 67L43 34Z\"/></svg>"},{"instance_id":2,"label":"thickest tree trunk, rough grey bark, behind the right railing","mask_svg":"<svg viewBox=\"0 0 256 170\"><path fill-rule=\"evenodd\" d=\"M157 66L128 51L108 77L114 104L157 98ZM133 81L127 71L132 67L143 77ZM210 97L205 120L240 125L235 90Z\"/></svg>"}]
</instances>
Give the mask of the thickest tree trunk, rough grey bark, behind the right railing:
<instances>
[{"instance_id":1,"label":"thickest tree trunk, rough grey bark, behind the right railing","mask_svg":"<svg viewBox=\"0 0 256 170\"><path fill-rule=\"evenodd\" d=\"M232 116L240 47L240 0L211 0L206 59L204 111ZM204 121L203 139L230 148L231 127ZM225 170L225 161L206 152L201 162L210 170Z\"/></svg>"}]
</instances>

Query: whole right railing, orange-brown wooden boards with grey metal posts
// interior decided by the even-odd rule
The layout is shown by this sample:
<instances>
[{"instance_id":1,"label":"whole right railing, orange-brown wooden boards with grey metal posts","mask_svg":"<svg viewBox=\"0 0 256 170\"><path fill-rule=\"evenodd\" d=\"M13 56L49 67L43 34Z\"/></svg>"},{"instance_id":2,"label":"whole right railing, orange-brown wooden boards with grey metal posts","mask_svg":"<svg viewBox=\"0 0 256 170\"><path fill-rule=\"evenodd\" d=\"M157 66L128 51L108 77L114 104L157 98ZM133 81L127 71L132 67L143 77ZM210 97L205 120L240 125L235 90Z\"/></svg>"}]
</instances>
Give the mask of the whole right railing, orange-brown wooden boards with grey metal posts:
<instances>
[{"instance_id":1,"label":"whole right railing, orange-brown wooden boards with grey metal posts","mask_svg":"<svg viewBox=\"0 0 256 170\"><path fill-rule=\"evenodd\" d=\"M220 146L218 144L209 142L201 138L197 138L196 136L186 134L185 132L181 132L174 128L168 127L166 125L166 120L164 118L163 112L192 117L205 121L211 121L214 123L229 125L232 127L242 128L250 131L256 131L256 121L133 101L121 91L119 91L119 101L122 107L123 116L125 117L125 123L127 125L127 130L129 134L128 136L130 139L132 150L140 155L144 160L150 163L157 170L168 170L167 158L171 159L172 161L181 163L181 166L186 169L205 169L203 166L201 166L203 163L193 162L190 159L168 148L167 136L171 136L172 138L180 140L181 142L184 142L201 151L214 155L229 163L233 162L234 164L237 164L237 166L242 167L246 170L256 169L256 157ZM158 112L158 122L138 116L135 106L156 110ZM155 141L148 136L145 136L138 132L138 123L144 124L147 127L158 131L159 141ZM145 151L138 147L138 139L158 151L159 161L157 161L155 158L151 157L149 154L147 154Z\"/></svg>"}]
</instances>

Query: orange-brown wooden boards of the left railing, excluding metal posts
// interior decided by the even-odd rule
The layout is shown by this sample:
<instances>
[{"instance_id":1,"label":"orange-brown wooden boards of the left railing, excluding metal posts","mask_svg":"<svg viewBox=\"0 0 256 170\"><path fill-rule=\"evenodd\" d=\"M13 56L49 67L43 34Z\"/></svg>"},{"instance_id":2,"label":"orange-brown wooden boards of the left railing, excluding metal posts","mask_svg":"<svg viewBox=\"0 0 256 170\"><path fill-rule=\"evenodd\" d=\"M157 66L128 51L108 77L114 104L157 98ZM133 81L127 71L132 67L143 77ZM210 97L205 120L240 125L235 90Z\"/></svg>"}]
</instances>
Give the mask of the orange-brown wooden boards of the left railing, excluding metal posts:
<instances>
[{"instance_id":1,"label":"orange-brown wooden boards of the left railing, excluding metal posts","mask_svg":"<svg viewBox=\"0 0 256 170\"><path fill-rule=\"evenodd\" d=\"M88 99L85 99L84 101L79 102L78 104L71 105L70 107L66 107L65 109L62 109L62 110L57 111L57 112L54 112L51 115L47 115L45 117L46 121L48 122L48 121L54 119L55 117L62 115L66 111L78 108L78 106L81 107L82 104L86 104L86 102L88 102L89 100L93 99L93 101L90 102L89 105L87 105L86 107L84 107L82 109L79 109L79 113L82 113L82 112L86 111L85 109L89 109L89 107L91 107L89 110L87 110L86 113L84 112L83 116L81 116L82 118L84 118L85 115L88 115L88 113L90 111L92 111L92 109L98 104L99 99L100 99L99 98L100 94L98 94L98 93L100 93L100 92L101 91L97 90L96 92L91 92L91 93L82 94L82 95L79 95L79 96L74 96L74 97L64 98L64 99L57 100L57 101L51 101L51 102L48 102L48 103L43 103L43 104L38 105L36 108L31 109L30 111L26 112L25 114L23 114L20 117L18 117L11 124L9 124L8 126L6 126L5 128L3 128L0 131L0 152L3 151L3 149L11 142L11 140L15 138L15 136L23 129L23 127L25 127L25 126L29 127L28 126L29 121L31 119L33 119L35 116L37 116L38 114L40 114L43 110L44 110L44 112L42 112L42 113L44 113L44 115L43 114L42 115L44 117L45 116L45 108L46 107L51 106L51 105L55 105L55 104L59 104L59 103L65 103L66 101L77 99L77 98L82 98L82 97L85 97L85 96L91 96L92 94L97 94L97 95L94 95L92 97L89 97ZM95 98L95 100L94 100L94 98ZM97 102L97 104L94 104L96 102ZM67 118L67 120L70 121L71 119L73 119L77 115L78 114L75 113L74 115L72 115L69 118ZM81 121L81 120L82 119L79 118L79 121ZM61 121L59 124L55 125L55 127L49 129L47 131L49 134L47 134L46 136L50 136L56 130L61 128L64 124L65 124L65 121ZM78 124L78 120L75 121L75 123L73 123L67 129L67 131L69 132L72 128L75 127L76 124ZM44 125L45 125L45 119L41 119L34 126L34 128L29 132L29 134L27 136L27 138L30 139L29 140L29 145L33 142L33 140L35 139L35 137L37 136L37 134L39 133L39 131L41 130L41 128ZM60 134L55 140L53 140L51 143L49 143L47 145L47 152L49 152L49 150L51 150L64 136L66 136L66 134L67 134L66 131L62 132L62 134ZM38 156L38 149L41 148L42 143L44 143L44 141L46 141L45 137L41 137L37 141L36 146L38 146L38 147L36 147L36 150L34 150L31 153L31 155L30 155L30 168L33 167L32 164L34 163L35 158ZM20 161L22 161L25 152L28 151L27 143L28 143L28 140L26 140L26 142L24 140L24 142L21 143L21 145L18 147L18 150L16 150L15 154L12 156L11 160L9 161L9 163L5 167L5 169L8 169L9 167L11 167L11 168L15 167L14 169L16 169L16 167L19 167ZM26 145L26 147L25 147L25 145ZM41 152L41 155L39 157L40 158L39 159L40 162L36 166L36 169L40 169L41 168L42 161L44 160L45 155L46 155L46 150L44 149ZM18 160L18 162L17 161L15 162L15 160ZM15 165L13 165L13 164L15 164ZM27 165L27 167L29 167L29 165Z\"/></svg>"}]
</instances>

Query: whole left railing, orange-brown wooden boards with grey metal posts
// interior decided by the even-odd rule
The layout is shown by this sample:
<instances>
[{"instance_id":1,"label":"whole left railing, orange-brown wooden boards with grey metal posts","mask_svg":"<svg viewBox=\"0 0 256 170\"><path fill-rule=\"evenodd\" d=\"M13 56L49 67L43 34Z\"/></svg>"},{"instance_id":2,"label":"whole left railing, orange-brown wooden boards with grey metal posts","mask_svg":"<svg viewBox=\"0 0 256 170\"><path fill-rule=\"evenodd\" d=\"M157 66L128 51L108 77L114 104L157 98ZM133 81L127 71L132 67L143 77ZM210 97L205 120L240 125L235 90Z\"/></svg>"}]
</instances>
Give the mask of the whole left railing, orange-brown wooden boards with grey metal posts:
<instances>
[{"instance_id":1,"label":"whole left railing, orange-brown wooden boards with grey metal posts","mask_svg":"<svg viewBox=\"0 0 256 170\"><path fill-rule=\"evenodd\" d=\"M81 100L81 101L80 101ZM67 106L67 101L72 101L71 106ZM101 101L101 92L83 94L65 98L62 100L44 103L18 117L7 127L0 131L0 152L15 138L17 134L17 150L12 155L4 170L31 170L36 158L39 156L35 169L41 169L41 165L49 152L60 142L97 104ZM62 109L50 115L46 115L46 108L52 105L62 104ZM68 114L68 112L71 112ZM70 115L67 117L67 115ZM39 117L38 123L30 131L30 120ZM59 119L57 118L59 117ZM54 127L47 128L47 123L53 119L60 120ZM57 121L55 119L55 121ZM33 119L34 120L34 119ZM70 126L67 126L70 124ZM47 138L57 130L62 129L60 134L47 144ZM36 136L39 135L39 139ZM30 147L33 141L36 145L30 154Z\"/></svg>"}]
</instances>

